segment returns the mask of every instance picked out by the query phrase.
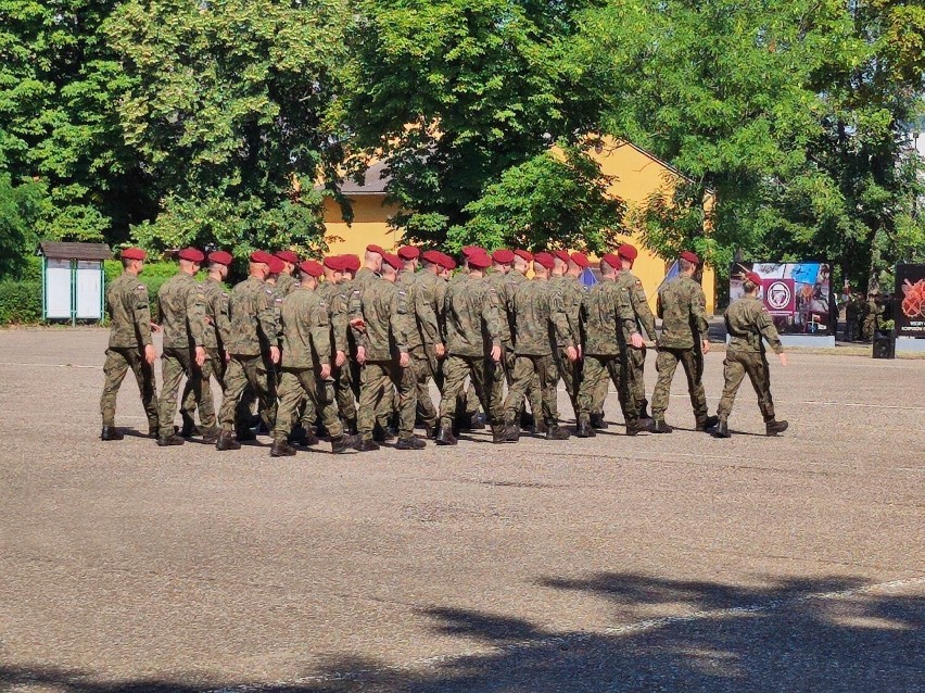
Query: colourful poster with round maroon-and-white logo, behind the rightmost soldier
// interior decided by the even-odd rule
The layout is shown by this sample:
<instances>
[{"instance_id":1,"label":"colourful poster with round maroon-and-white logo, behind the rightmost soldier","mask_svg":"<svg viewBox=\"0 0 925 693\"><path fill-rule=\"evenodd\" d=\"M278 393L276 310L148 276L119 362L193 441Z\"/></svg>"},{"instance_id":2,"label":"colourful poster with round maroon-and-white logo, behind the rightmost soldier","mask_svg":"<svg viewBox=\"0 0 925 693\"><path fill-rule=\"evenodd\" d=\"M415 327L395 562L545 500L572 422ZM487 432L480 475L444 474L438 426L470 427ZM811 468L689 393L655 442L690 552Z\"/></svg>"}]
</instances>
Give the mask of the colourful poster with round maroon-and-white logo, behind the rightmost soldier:
<instances>
[{"instance_id":1,"label":"colourful poster with round maroon-and-white logo, behind the rightmost soldier","mask_svg":"<svg viewBox=\"0 0 925 693\"><path fill-rule=\"evenodd\" d=\"M743 275L746 272L761 277L758 298L772 315L778 332L834 337L836 318L831 263L734 263L730 272L731 301L745 293Z\"/></svg>"}]
</instances>

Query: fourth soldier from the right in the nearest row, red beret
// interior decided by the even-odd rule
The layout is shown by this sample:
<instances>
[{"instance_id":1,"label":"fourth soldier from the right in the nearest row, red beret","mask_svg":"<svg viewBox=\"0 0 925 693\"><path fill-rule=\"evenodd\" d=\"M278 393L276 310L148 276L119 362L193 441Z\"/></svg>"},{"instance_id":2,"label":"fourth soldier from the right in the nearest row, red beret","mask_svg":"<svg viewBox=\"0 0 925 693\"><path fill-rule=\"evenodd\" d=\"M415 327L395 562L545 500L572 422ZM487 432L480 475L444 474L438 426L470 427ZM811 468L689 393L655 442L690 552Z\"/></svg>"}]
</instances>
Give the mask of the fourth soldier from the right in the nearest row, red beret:
<instances>
[{"instance_id":1,"label":"fourth soldier from the right in the nearest row, red beret","mask_svg":"<svg viewBox=\"0 0 925 693\"><path fill-rule=\"evenodd\" d=\"M554 266L552 255L537 253L533 257L533 280L525 281L514 294L514 382L504 403L505 442L516 442L520 437L520 410L534 378L540 381L546 440L569 438L569 431L559 426L556 402L559 377L553 351L558 345L571 360L578 353L578 346L570 341L568 325L561 319L559 299L548 281ZM538 412L534 413L534 417L538 416Z\"/></svg>"}]
</instances>

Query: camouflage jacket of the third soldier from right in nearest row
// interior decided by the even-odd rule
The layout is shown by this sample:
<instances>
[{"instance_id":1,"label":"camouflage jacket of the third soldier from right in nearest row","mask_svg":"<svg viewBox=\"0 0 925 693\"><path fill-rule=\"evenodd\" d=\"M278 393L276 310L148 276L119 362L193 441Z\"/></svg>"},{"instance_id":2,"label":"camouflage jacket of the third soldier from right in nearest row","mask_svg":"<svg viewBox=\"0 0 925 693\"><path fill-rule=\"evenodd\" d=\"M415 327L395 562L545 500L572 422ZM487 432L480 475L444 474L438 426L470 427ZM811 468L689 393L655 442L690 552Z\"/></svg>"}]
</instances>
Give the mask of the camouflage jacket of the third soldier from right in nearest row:
<instances>
[{"instance_id":1,"label":"camouflage jacket of the third soldier from right in nearest row","mask_svg":"<svg viewBox=\"0 0 925 693\"><path fill-rule=\"evenodd\" d=\"M629 290L606 279L584 294L581 318L584 353L590 356L621 355L626 344L625 336L636 327Z\"/></svg>"}]
</instances>

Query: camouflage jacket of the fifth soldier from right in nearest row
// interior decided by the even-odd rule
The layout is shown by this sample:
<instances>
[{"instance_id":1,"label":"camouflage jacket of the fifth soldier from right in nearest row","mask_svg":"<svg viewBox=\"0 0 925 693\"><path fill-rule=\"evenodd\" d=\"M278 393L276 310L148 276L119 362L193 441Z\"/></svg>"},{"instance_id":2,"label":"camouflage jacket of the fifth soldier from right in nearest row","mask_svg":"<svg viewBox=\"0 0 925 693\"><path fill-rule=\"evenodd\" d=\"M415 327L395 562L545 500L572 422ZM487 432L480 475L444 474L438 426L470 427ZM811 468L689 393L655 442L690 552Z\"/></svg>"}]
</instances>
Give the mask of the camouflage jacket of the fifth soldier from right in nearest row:
<instances>
[{"instance_id":1,"label":"camouflage jacket of the fifth soldier from right in nearest row","mask_svg":"<svg viewBox=\"0 0 925 693\"><path fill-rule=\"evenodd\" d=\"M446 351L456 356L485 356L492 346L500 346L500 322L492 286L466 275L448 282L444 304Z\"/></svg>"}]
</instances>

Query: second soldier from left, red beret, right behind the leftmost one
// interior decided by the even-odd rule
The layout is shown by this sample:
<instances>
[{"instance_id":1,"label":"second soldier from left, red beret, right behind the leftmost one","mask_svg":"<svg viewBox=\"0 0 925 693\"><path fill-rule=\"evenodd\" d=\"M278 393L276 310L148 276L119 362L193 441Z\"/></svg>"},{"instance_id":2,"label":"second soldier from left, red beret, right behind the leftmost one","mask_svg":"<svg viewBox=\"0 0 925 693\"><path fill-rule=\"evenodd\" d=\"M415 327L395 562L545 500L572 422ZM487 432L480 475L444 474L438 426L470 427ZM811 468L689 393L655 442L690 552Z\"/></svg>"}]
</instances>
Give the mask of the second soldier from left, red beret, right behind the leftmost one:
<instances>
[{"instance_id":1,"label":"second soldier from left, red beret, right behind the leftmost one","mask_svg":"<svg viewBox=\"0 0 925 693\"><path fill-rule=\"evenodd\" d=\"M161 399L157 402L157 444L162 448L183 444L183 439L174 432L174 416L177 413L177 391L185 375L199 404L200 420L205 429L203 441L214 443L218 438L212 390L202 387L202 365L206 358L205 314L194 277L203 260L205 255L195 248L181 250L179 273L165 281L157 292L164 330Z\"/></svg>"}]
</instances>

